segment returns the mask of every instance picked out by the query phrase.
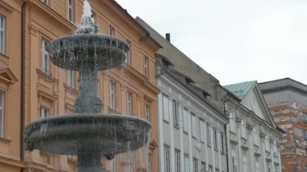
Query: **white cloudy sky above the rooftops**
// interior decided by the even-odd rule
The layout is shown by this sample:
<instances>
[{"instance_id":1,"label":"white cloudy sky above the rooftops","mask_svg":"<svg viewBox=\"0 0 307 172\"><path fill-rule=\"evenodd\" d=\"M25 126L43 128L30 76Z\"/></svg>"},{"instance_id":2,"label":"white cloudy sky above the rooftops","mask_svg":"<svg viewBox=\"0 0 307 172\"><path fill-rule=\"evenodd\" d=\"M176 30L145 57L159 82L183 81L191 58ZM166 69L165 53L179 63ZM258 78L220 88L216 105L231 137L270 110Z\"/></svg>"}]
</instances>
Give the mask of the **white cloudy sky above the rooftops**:
<instances>
[{"instance_id":1,"label":"white cloudy sky above the rooftops","mask_svg":"<svg viewBox=\"0 0 307 172\"><path fill-rule=\"evenodd\" d=\"M307 83L307 1L116 0L221 84L291 77Z\"/></svg>"}]
</instances>

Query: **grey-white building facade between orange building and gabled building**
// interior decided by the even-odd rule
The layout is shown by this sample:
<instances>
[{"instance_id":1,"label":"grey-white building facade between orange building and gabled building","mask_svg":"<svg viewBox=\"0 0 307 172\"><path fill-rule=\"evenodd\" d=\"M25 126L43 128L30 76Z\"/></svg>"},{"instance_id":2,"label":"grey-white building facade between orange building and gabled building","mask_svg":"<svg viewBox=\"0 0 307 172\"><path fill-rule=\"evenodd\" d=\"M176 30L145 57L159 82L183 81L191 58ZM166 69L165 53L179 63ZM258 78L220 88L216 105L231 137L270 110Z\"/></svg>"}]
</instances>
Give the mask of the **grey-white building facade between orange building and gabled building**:
<instances>
[{"instance_id":1,"label":"grey-white building facade between orange building and gabled building","mask_svg":"<svg viewBox=\"0 0 307 172\"><path fill-rule=\"evenodd\" d=\"M157 76L160 172L226 171L227 116L178 72L161 71Z\"/></svg>"}]
</instances>

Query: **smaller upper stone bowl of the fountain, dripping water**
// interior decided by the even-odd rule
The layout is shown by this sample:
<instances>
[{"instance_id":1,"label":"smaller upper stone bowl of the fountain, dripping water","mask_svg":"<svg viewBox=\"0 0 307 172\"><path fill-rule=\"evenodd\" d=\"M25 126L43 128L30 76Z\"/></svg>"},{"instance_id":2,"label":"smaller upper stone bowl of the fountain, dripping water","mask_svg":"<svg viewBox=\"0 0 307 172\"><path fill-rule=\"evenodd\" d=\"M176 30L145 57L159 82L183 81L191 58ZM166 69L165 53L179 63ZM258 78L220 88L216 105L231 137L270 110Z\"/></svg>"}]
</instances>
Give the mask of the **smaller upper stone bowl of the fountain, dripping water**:
<instances>
[{"instance_id":1,"label":"smaller upper stone bowl of the fountain, dripping water","mask_svg":"<svg viewBox=\"0 0 307 172\"><path fill-rule=\"evenodd\" d=\"M50 60L58 67L81 70L92 64L97 70L106 70L122 64L129 46L113 36L75 34L58 38L47 45Z\"/></svg>"}]
</instances>

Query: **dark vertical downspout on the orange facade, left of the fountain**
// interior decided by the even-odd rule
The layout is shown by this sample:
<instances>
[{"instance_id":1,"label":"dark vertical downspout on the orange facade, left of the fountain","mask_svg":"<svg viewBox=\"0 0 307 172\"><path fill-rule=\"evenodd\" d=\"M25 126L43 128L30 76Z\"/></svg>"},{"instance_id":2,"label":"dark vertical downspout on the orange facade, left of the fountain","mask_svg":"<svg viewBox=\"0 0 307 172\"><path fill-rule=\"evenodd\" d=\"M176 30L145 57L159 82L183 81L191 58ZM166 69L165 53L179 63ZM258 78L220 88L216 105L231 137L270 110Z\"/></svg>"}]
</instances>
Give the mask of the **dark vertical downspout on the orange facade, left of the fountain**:
<instances>
[{"instance_id":1,"label":"dark vertical downspout on the orange facade, left of the fountain","mask_svg":"<svg viewBox=\"0 0 307 172\"><path fill-rule=\"evenodd\" d=\"M21 6L21 110L20 110L20 161L24 161L25 130L25 3ZM20 169L21 172L24 168Z\"/></svg>"}]
</instances>

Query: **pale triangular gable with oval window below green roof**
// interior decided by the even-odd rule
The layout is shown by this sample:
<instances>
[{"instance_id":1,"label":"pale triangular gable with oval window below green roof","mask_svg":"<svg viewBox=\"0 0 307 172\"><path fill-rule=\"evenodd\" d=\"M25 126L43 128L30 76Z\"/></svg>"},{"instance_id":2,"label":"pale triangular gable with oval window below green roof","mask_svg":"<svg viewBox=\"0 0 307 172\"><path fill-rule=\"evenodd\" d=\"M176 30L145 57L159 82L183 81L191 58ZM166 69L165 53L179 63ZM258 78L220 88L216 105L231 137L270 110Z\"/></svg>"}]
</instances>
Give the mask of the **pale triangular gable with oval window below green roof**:
<instances>
[{"instance_id":1,"label":"pale triangular gable with oval window below green roof","mask_svg":"<svg viewBox=\"0 0 307 172\"><path fill-rule=\"evenodd\" d=\"M246 94L245 98L241 101L241 104L254 112L255 115L261 119L267 121L271 126L275 127L274 120L268 109L268 106L264 100L262 92L259 88L258 83Z\"/></svg>"}]
</instances>

